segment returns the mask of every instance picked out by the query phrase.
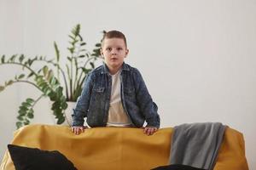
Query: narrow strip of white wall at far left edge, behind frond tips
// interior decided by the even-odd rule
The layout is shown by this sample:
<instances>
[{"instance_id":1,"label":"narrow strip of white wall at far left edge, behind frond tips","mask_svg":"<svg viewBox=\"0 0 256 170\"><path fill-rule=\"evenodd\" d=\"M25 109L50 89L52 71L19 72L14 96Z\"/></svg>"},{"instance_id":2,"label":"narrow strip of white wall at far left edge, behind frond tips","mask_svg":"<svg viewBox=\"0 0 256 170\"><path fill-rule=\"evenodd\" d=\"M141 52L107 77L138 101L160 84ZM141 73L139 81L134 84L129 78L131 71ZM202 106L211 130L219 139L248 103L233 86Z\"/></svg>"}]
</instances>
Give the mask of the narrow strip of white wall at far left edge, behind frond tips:
<instances>
[{"instance_id":1,"label":"narrow strip of white wall at far left edge, behind frond tips","mask_svg":"<svg viewBox=\"0 0 256 170\"><path fill-rule=\"evenodd\" d=\"M18 1L0 0L0 55L17 54L23 50L23 11ZM15 66L0 65L0 85L15 77ZM0 158L15 131L15 117L19 106L19 85L0 93Z\"/></svg>"}]
</instances>

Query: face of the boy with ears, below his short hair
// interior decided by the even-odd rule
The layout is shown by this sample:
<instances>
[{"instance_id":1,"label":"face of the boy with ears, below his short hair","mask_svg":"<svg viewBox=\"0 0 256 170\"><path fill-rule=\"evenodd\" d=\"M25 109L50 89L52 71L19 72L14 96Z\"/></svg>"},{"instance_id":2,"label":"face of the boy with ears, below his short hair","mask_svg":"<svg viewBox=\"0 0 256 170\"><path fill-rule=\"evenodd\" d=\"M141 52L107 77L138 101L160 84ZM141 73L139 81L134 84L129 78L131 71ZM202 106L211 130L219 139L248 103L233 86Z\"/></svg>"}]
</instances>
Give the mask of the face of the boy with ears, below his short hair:
<instances>
[{"instance_id":1,"label":"face of the boy with ears, below his short hair","mask_svg":"<svg viewBox=\"0 0 256 170\"><path fill-rule=\"evenodd\" d=\"M122 38L106 38L103 40L101 54L108 69L116 70L123 65L124 59L129 53Z\"/></svg>"}]
</instances>

